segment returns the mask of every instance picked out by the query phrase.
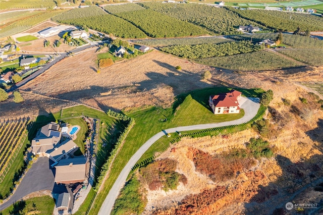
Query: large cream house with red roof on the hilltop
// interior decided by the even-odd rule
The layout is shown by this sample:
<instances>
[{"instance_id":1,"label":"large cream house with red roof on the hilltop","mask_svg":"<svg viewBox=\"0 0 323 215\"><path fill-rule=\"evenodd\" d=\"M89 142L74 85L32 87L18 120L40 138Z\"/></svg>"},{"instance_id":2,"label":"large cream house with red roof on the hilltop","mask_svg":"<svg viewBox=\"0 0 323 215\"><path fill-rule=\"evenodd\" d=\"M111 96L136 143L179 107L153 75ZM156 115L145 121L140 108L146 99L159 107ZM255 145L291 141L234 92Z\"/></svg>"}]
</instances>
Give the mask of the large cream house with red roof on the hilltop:
<instances>
[{"instance_id":1,"label":"large cream house with red roof on the hilltop","mask_svg":"<svg viewBox=\"0 0 323 215\"><path fill-rule=\"evenodd\" d=\"M219 95L210 95L208 103L214 114L239 114L238 98L240 96L241 92L232 89Z\"/></svg>"}]
</instances>

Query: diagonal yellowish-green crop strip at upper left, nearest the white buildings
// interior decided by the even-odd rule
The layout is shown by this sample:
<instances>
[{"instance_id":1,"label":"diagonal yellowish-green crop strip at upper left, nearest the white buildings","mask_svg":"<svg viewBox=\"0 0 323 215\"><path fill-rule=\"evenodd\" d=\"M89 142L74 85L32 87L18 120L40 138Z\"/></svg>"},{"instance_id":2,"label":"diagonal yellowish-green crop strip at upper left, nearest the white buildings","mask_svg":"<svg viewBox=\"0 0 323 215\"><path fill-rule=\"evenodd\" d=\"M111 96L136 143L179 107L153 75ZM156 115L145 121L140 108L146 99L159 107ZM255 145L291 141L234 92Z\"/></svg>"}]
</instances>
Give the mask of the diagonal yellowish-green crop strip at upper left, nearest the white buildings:
<instances>
[{"instance_id":1,"label":"diagonal yellowish-green crop strip at upper left, nearest the white buildings","mask_svg":"<svg viewBox=\"0 0 323 215\"><path fill-rule=\"evenodd\" d=\"M17 22L8 25L7 27L0 30L0 38L7 37L13 34L20 33L27 29L30 29L34 25L37 25L53 16L63 13L64 11L44 11L42 13L36 14L34 16L28 17L28 19L21 19Z\"/></svg>"}]
</instances>

